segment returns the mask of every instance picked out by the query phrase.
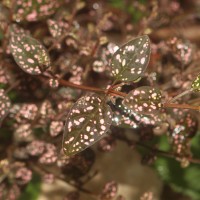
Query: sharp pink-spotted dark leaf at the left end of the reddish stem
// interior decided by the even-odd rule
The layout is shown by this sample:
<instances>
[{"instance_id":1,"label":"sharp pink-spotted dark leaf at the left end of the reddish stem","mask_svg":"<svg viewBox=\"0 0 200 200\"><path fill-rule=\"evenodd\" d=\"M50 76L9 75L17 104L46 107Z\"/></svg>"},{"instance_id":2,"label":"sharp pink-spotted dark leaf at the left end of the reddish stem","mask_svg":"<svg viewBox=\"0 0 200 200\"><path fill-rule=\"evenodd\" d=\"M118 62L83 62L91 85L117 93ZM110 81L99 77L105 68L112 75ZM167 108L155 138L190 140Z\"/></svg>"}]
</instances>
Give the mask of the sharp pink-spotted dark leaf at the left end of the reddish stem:
<instances>
[{"instance_id":1,"label":"sharp pink-spotted dark leaf at the left end of the reddish stem","mask_svg":"<svg viewBox=\"0 0 200 200\"><path fill-rule=\"evenodd\" d=\"M16 63L29 74L39 75L50 67L46 49L29 35L13 34L10 49Z\"/></svg>"}]
</instances>

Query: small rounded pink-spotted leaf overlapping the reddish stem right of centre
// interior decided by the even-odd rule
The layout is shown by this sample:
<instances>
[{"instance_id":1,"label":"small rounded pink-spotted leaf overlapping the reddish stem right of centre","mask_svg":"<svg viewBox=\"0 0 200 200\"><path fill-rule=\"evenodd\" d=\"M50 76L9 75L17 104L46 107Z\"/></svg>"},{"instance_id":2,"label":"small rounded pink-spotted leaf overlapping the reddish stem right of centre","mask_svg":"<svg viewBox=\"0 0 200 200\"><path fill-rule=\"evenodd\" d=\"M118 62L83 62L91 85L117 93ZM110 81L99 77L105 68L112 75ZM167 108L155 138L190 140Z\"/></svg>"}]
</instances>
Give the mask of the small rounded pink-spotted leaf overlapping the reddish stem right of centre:
<instances>
[{"instance_id":1,"label":"small rounded pink-spotted leaf overlapping the reddish stem right of centre","mask_svg":"<svg viewBox=\"0 0 200 200\"><path fill-rule=\"evenodd\" d=\"M129 92L123 104L139 114L154 114L162 107L160 90L142 86Z\"/></svg>"}]
</instances>

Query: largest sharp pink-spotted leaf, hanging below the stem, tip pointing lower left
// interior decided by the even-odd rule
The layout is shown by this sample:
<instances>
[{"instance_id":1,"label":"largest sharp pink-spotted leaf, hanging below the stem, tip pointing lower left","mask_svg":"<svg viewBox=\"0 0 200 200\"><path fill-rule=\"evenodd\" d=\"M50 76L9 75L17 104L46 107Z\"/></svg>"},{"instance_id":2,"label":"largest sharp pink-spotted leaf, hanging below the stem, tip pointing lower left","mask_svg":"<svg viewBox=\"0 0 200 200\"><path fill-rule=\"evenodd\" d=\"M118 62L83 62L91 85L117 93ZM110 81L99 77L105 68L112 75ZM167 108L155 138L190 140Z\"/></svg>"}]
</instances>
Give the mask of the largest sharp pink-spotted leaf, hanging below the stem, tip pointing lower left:
<instances>
[{"instance_id":1,"label":"largest sharp pink-spotted leaf, hanging below the stem, tip pointing lower left","mask_svg":"<svg viewBox=\"0 0 200 200\"><path fill-rule=\"evenodd\" d=\"M93 145L108 131L112 111L104 97L96 94L80 98L72 107L65 124L63 149L74 155Z\"/></svg>"}]
</instances>

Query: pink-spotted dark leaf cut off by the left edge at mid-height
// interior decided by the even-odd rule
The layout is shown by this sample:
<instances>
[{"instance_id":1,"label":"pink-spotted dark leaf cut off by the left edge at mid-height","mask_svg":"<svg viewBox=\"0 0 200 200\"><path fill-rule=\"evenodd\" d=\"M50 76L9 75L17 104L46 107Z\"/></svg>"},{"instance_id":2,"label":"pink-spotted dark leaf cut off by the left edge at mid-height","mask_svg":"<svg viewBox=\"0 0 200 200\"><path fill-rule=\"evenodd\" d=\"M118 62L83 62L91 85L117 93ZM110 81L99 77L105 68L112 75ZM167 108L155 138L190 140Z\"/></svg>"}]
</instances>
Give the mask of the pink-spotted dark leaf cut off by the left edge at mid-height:
<instances>
[{"instance_id":1,"label":"pink-spotted dark leaf cut off by the left edge at mid-height","mask_svg":"<svg viewBox=\"0 0 200 200\"><path fill-rule=\"evenodd\" d=\"M0 89L0 121L8 114L11 107L10 99L3 89Z\"/></svg>"}]
</instances>

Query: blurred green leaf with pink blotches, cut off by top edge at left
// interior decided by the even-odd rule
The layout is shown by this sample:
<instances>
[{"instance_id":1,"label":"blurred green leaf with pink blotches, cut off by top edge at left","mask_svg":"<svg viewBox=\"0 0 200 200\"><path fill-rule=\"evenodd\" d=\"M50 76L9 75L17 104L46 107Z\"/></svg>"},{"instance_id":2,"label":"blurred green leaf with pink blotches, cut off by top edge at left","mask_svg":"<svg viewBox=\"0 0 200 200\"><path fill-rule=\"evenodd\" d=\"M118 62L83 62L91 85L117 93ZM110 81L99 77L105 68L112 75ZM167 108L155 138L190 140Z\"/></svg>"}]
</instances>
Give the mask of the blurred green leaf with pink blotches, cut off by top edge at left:
<instances>
[{"instance_id":1,"label":"blurred green leaf with pink blotches, cut off by top edge at left","mask_svg":"<svg viewBox=\"0 0 200 200\"><path fill-rule=\"evenodd\" d=\"M60 0L16 1L13 18L15 21L38 21L55 13Z\"/></svg>"}]
</instances>

